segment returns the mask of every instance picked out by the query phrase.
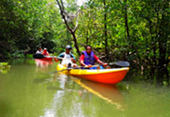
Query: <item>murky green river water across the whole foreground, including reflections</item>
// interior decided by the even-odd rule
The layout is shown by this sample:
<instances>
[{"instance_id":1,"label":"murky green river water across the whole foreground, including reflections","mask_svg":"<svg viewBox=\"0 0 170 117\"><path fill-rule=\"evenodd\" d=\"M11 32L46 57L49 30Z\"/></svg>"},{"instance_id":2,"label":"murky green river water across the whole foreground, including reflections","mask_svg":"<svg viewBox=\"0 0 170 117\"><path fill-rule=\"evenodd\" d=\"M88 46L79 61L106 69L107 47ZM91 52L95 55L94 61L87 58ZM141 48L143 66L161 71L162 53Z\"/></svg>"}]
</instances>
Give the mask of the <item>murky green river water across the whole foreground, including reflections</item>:
<instances>
[{"instance_id":1,"label":"murky green river water across the whole foreground, including reflections","mask_svg":"<svg viewBox=\"0 0 170 117\"><path fill-rule=\"evenodd\" d=\"M127 81L129 75L117 85L79 81L50 74L56 65L33 59L11 62L10 70L0 73L0 117L170 116L168 87Z\"/></svg>"}]
</instances>

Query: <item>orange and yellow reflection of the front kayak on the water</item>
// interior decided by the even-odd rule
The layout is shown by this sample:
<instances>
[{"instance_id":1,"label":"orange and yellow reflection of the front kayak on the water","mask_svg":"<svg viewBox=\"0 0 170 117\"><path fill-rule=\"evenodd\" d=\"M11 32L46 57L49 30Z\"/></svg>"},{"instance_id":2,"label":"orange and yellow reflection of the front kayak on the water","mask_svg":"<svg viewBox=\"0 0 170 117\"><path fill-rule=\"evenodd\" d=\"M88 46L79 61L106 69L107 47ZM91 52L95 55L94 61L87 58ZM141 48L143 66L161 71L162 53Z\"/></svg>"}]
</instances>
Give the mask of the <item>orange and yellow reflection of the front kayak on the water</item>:
<instances>
[{"instance_id":1,"label":"orange and yellow reflection of the front kayak on the water","mask_svg":"<svg viewBox=\"0 0 170 117\"><path fill-rule=\"evenodd\" d=\"M79 91L79 95L82 96L82 98L88 99L88 91L100 97L101 99L115 105L118 110L125 109L125 106L123 105L123 96L119 92L119 89L116 85L96 83L75 78L73 78L72 80L84 88L83 91Z\"/></svg>"}]
</instances>

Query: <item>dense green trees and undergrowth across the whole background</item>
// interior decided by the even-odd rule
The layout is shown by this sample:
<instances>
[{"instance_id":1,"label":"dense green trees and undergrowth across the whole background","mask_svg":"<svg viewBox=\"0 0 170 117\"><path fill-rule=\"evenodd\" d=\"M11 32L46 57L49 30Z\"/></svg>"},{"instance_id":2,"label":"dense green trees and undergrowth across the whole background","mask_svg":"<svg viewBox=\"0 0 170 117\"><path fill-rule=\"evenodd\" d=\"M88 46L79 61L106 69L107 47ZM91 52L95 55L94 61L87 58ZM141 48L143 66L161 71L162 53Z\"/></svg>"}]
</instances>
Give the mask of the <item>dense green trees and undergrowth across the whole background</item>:
<instances>
[{"instance_id":1,"label":"dense green trees and undergrowth across the whole background","mask_svg":"<svg viewBox=\"0 0 170 117\"><path fill-rule=\"evenodd\" d=\"M1 0L0 58L66 44L80 55L92 45L105 61L128 60L136 68L167 67L170 56L168 0Z\"/></svg>"}]
</instances>

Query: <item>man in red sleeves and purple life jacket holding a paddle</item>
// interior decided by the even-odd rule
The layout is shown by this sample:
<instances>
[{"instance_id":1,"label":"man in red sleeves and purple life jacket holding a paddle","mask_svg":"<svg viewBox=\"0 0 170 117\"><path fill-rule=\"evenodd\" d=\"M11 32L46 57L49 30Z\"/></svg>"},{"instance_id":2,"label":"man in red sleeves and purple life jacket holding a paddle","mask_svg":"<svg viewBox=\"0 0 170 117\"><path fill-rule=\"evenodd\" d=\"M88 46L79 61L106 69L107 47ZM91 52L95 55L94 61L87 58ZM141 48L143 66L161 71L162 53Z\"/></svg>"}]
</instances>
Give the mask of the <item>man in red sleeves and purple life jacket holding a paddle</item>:
<instances>
[{"instance_id":1,"label":"man in red sleeves and purple life jacket holding a paddle","mask_svg":"<svg viewBox=\"0 0 170 117\"><path fill-rule=\"evenodd\" d=\"M92 67L95 62L98 62L100 65L100 69L103 69L103 66L107 66L107 63L102 62L92 51L92 47L90 45L86 46L86 51L83 51L80 56L80 64L85 68L97 69L97 67Z\"/></svg>"}]
</instances>

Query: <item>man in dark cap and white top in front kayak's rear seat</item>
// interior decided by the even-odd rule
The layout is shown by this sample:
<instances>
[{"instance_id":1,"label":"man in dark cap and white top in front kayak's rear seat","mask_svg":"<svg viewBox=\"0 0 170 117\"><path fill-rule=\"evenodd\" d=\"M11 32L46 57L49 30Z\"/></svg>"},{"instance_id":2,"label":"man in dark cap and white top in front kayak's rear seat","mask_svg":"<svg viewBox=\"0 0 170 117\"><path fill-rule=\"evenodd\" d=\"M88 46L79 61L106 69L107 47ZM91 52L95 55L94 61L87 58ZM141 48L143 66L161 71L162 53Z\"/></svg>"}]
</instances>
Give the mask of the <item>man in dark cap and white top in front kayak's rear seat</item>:
<instances>
[{"instance_id":1,"label":"man in dark cap and white top in front kayak's rear seat","mask_svg":"<svg viewBox=\"0 0 170 117\"><path fill-rule=\"evenodd\" d=\"M67 45L65 48L65 52L61 53L57 58L54 58L56 62L60 60L62 65L66 67L77 67L75 56L71 53L72 47Z\"/></svg>"}]
</instances>

